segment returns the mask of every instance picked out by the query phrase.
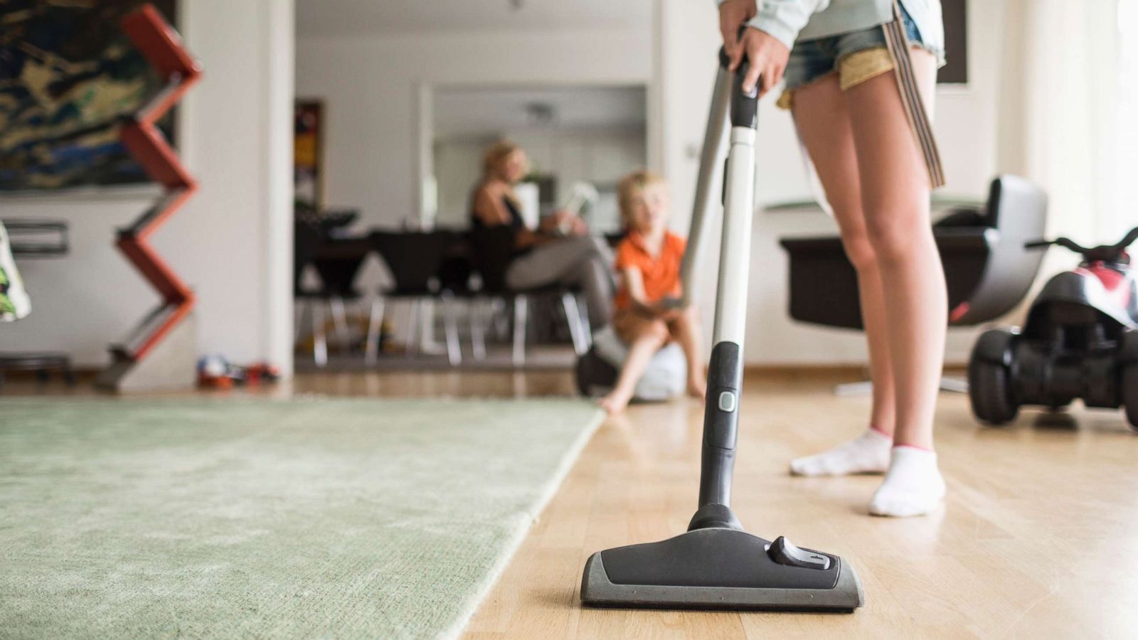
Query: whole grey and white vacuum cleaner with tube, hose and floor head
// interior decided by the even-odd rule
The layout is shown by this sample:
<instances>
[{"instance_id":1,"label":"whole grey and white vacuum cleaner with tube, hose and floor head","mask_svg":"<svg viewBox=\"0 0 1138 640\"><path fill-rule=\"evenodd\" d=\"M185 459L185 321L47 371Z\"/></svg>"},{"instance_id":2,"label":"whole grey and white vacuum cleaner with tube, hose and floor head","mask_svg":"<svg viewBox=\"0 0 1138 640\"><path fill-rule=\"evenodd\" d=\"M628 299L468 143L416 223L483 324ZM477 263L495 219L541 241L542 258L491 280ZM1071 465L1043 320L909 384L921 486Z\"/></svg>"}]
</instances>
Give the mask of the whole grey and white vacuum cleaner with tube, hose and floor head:
<instances>
[{"instance_id":1,"label":"whole grey and white vacuum cleaner with tube, hose and floor head","mask_svg":"<svg viewBox=\"0 0 1138 640\"><path fill-rule=\"evenodd\" d=\"M747 67L744 61L732 76L727 55L719 51L692 232L682 269L684 302L690 303L696 254L715 204L710 186L729 118L731 147L724 170L719 285L703 413L699 509L686 533L662 542L593 553L585 564L580 586L582 602L587 606L852 612L865 602L857 573L840 557L797 547L783 536L772 542L751 535L731 510L758 124L758 93L742 90Z\"/></svg>"}]
</instances>

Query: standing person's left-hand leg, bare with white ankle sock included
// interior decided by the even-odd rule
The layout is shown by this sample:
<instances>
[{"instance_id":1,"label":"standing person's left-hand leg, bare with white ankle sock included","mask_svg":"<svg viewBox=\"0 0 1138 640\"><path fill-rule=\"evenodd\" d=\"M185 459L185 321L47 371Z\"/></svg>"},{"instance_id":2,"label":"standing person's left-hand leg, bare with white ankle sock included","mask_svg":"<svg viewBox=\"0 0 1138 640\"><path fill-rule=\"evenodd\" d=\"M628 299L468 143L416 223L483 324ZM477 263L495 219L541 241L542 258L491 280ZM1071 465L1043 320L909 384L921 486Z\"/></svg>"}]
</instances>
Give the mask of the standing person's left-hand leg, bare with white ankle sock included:
<instances>
[{"instance_id":1,"label":"standing person's left-hand leg, bare with white ankle sock included","mask_svg":"<svg viewBox=\"0 0 1138 640\"><path fill-rule=\"evenodd\" d=\"M852 441L791 461L791 473L807 476L882 474L889 468L894 397L885 335L881 270L861 213L857 154L846 97L832 75L794 93L794 123L818 171L826 199L842 232L842 244L857 269L861 319L869 346L873 409L869 429Z\"/></svg>"}]
</instances>

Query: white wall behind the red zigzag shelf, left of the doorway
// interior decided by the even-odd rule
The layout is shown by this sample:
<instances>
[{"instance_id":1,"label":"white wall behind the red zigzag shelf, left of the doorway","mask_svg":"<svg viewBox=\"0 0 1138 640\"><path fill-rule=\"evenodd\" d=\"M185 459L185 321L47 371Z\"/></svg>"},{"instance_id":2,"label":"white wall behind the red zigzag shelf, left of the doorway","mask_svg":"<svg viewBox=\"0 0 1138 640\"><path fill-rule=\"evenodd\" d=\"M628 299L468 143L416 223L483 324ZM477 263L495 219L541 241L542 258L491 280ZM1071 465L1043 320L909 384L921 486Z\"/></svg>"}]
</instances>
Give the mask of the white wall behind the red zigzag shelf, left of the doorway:
<instances>
[{"instance_id":1,"label":"white wall behind the red zigzag shelf, left of the doorway","mask_svg":"<svg viewBox=\"0 0 1138 640\"><path fill-rule=\"evenodd\" d=\"M182 101L179 140L200 190L154 237L198 296L201 353L291 370L292 1L183 0L180 31L205 73ZM149 189L0 199L5 218L71 223L72 253L22 261L32 315L0 328L0 348L68 351L79 366L158 298L113 247Z\"/></svg>"}]
</instances>

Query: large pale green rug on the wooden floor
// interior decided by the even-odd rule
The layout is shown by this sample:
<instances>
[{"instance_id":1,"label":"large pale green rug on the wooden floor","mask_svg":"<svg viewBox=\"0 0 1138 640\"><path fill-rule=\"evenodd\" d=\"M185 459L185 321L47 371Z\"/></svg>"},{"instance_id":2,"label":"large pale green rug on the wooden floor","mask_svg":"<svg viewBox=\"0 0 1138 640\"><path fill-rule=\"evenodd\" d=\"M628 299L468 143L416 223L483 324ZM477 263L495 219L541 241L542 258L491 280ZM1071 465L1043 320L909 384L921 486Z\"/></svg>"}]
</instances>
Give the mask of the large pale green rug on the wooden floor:
<instances>
[{"instance_id":1,"label":"large pale green rug on the wooden floor","mask_svg":"<svg viewBox=\"0 0 1138 640\"><path fill-rule=\"evenodd\" d=\"M456 635L572 400L0 401L0 637Z\"/></svg>"}]
</instances>

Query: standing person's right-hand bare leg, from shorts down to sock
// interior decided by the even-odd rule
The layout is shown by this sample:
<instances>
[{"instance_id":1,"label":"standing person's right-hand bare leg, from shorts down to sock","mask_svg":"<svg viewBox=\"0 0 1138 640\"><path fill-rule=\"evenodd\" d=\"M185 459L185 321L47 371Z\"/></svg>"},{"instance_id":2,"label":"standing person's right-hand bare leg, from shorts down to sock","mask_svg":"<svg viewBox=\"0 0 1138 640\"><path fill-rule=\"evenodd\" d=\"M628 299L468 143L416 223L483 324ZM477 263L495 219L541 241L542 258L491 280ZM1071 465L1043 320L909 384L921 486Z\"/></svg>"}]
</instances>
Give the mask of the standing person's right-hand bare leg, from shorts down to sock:
<instances>
[{"instance_id":1,"label":"standing person's right-hand bare leg, from shorts down to sock","mask_svg":"<svg viewBox=\"0 0 1138 640\"><path fill-rule=\"evenodd\" d=\"M937 64L913 52L931 96ZM932 237L929 174L891 73L846 91L861 184L861 207L881 272L897 415L893 442L932 449L948 296ZM931 100L926 98L931 107Z\"/></svg>"}]
</instances>

